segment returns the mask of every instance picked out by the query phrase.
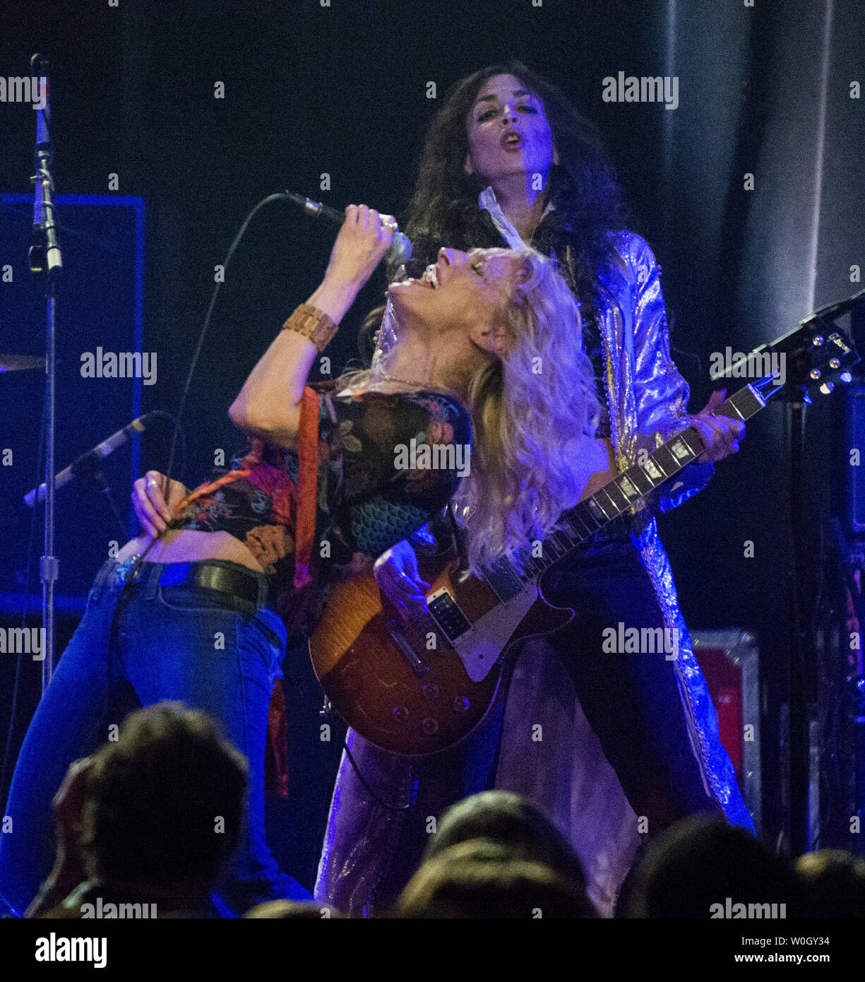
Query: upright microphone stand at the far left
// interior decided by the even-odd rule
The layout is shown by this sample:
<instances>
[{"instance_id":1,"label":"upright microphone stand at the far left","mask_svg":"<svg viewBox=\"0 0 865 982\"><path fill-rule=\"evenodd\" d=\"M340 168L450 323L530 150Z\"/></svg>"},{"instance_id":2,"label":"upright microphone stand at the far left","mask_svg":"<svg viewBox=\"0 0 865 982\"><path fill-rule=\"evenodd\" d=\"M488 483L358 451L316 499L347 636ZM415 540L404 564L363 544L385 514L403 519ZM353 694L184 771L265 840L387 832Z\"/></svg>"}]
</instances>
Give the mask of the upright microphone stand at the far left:
<instances>
[{"instance_id":1,"label":"upright microphone stand at the far left","mask_svg":"<svg viewBox=\"0 0 865 982\"><path fill-rule=\"evenodd\" d=\"M34 72L37 70L37 72ZM57 285L63 269L57 226L54 222L54 181L51 177L51 138L48 130L47 64L40 55L30 59L30 78L38 78L45 97L45 108L38 111L35 174L30 179L35 190L32 246L28 253L30 272L45 285L45 536L44 555L39 574L42 580L42 627L45 648L42 659L42 693L54 674L54 583L58 562L54 555L54 433L56 379Z\"/></svg>"}]
</instances>

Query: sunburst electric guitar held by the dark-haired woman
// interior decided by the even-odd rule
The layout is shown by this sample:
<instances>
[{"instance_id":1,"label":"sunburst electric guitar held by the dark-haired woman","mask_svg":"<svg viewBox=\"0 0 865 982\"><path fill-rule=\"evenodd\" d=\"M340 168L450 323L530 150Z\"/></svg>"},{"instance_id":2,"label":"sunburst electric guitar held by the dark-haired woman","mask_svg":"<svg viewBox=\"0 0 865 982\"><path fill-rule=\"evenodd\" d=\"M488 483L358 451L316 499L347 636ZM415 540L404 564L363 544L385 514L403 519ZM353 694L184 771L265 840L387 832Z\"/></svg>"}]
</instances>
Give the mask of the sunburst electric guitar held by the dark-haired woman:
<instances>
[{"instance_id":1,"label":"sunburst electric guitar held by the dark-haired woman","mask_svg":"<svg viewBox=\"0 0 865 982\"><path fill-rule=\"evenodd\" d=\"M836 327L799 327L760 352L784 354L784 385L771 374L739 389L716 410L749 419L790 387L808 401L833 374L858 360ZM753 356L753 355L752 355ZM849 376L841 375L844 380ZM521 563L494 563L462 577L459 561L419 560L431 589L428 613L407 622L379 591L372 573L335 585L309 651L334 709L361 736L392 753L420 756L452 746L481 722L519 641L567 625L574 612L544 599L544 575L599 528L638 506L704 450L689 427L564 513L557 530L526 550ZM431 566L431 563L433 564Z\"/></svg>"}]
</instances>

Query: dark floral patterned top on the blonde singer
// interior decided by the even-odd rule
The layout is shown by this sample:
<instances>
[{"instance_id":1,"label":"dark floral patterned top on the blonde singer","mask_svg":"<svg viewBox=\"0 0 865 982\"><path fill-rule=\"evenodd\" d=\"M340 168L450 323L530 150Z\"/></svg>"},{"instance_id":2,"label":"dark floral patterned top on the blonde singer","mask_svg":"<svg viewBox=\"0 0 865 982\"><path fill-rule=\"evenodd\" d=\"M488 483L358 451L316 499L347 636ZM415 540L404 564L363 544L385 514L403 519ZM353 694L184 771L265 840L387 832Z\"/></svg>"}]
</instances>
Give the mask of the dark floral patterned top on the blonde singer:
<instances>
[{"instance_id":1,"label":"dark floral patterned top on the blonde singer","mask_svg":"<svg viewBox=\"0 0 865 982\"><path fill-rule=\"evenodd\" d=\"M327 581L442 511L470 464L471 425L459 403L436 392L336 395L334 383L314 388L315 543ZM227 531L240 539L272 577L271 593L279 597L274 606L284 614L295 568L297 454L251 438L230 464L193 492L171 527Z\"/></svg>"}]
</instances>

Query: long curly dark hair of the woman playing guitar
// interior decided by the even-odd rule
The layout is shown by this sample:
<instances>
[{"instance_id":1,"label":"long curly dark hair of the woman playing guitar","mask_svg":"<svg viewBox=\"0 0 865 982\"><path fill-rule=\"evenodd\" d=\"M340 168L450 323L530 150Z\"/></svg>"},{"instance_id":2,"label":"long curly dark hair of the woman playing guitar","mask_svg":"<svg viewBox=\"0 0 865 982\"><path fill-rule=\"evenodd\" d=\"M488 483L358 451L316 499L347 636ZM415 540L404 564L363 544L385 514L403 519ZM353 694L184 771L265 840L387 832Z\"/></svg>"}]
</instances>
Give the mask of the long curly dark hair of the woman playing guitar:
<instances>
[{"instance_id":1,"label":"long curly dark hair of the woman playing guitar","mask_svg":"<svg viewBox=\"0 0 865 982\"><path fill-rule=\"evenodd\" d=\"M489 65L456 82L427 132L418 163L417 184L403 221L414 245L406 264L408 275L418 276L434 261L441 246L485 248L507 245L489 212L477 206L477 195L488 182L463 169L468 153L466 120L477 94L488 79L513 75L544 104L553 140L559 152L547 182L548 200L554 204L532 237L531 246L564 260L570 246L571 269L563 269L571 289L590 308L597 301L598 268L610 251L608 232L631 228L631 216L622 198L616 169L594 124L580 115L565 94L518 61ZM396 268L388 270L393 278ZM371 356L372 334L381 322L383 307L366 319L360 347ZM586 308L583 308L584 312Z\"/></svg>"}]
</instances>

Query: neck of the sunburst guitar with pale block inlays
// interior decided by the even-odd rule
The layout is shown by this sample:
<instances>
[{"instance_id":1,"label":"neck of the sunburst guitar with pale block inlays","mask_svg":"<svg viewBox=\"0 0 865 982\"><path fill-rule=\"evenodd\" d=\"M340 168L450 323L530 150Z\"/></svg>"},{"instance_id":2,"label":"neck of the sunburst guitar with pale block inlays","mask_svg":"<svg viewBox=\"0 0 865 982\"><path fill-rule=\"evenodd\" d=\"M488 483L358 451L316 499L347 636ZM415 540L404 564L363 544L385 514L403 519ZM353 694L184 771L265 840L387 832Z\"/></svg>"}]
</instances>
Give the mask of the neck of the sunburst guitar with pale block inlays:
<instances>
[{"instance_id":1,"label":"neck of the sunburst guitar with pale block inlays","mask_svg":"<svg viewBox=\"0 0 865 982\"><path fill-rule=\"evenodd\" d=\"M746 385L726 399L716 410L731 419L749 419L766 405L753 385ZM499 559L484 571L484 579L502 600L508 600L529 579L558 563L595 533L631 511L655 488L674 477L682 467L692 464L705 450L700 434L693 426L676 433L651 453L643 464L633 464L593 495L563 513L555 531L539 544L518 554L522 569L515 563ZM538 544L535 544L536 546Z\"/></svg>"}]
</instances>

